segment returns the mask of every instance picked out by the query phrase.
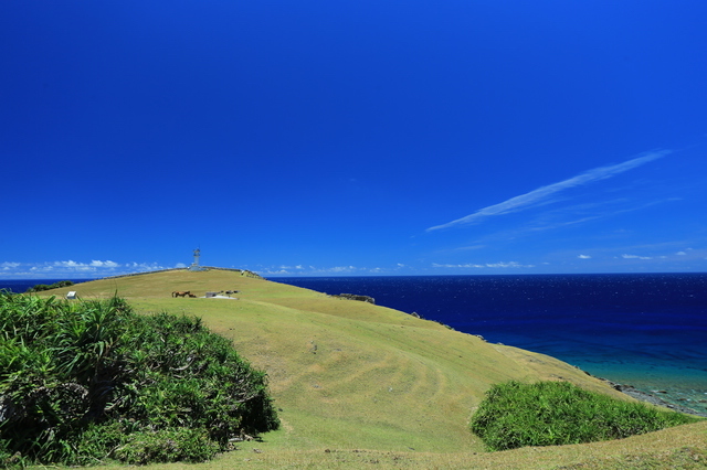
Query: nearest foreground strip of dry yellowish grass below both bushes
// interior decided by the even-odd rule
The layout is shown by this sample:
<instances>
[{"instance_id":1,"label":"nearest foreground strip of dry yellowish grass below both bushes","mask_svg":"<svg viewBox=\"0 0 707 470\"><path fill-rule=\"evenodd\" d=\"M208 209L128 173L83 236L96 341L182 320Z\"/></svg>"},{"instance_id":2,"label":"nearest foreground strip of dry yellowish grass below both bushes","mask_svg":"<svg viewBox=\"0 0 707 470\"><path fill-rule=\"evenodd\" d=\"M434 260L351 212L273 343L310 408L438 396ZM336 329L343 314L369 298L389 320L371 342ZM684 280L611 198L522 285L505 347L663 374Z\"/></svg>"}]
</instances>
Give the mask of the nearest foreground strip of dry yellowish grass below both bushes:
<instances>
[{"instance_id":1,"label":"nearest foreground strip of dry yellowish grass below both bushes","mask_svg":"<svg viewBox=\"0 0 707 470\"><path fill-rule=\"evenodd\" d=\"M241 450L170 470L243 469L703 469L707 423L621 440L571 446L524 447L498 452L423 452L363 448L273 449L247 442ZM281 431L276 431L281 432ZM149 468L158 468L149 466ZM159 468L165 468L160 466Z\"/></svg>"}]
</instances>

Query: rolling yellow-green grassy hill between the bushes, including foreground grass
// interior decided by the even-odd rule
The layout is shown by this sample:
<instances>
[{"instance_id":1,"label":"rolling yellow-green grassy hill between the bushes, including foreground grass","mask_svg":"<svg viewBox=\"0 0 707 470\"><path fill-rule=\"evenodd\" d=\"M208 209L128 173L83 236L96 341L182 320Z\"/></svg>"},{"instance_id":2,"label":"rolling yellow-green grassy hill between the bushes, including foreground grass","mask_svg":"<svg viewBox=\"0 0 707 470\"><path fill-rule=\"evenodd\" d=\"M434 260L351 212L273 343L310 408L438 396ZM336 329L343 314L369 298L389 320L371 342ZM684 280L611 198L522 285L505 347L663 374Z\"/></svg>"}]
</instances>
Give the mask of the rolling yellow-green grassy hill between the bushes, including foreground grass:
<instances>
[{"instance_id":1,"label":"rolling yellow-green grassy hill between the bushes, including foreground grass","mask_svg":"<svg viewBox=\"0 0 707 470\"><path fill-rule=\"evenodd\" d=\"M70 290L84 299L117 293L140 312L201 317L268 373L282 429L200 467L707 466L707 452L699 450L707 447L707 421L621 441L486 452L467 425L493 383L564 380L632 398L556 359L397 310L229 270L152 273L43 295ZM172 298L175 290L240 292L238 299Z\"/></svg>"}]
</instances>

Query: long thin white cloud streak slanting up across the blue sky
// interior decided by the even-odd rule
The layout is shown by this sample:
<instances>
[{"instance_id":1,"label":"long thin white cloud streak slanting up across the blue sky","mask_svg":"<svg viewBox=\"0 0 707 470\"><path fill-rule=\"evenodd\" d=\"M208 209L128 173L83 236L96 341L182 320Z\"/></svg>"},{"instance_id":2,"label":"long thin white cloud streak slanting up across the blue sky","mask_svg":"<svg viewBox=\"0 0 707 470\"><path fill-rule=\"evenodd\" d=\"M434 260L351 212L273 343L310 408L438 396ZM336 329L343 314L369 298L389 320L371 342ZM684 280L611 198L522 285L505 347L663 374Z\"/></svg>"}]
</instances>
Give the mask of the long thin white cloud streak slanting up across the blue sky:
<instances>
[{"instance_id":1,"label":"long thin white cloud streak slanting up across the blue sky","mask_svg":"<svg viewBox=\"0 0 707 470\"><path fill-rule=\"evenodd\" d=\"M541 186L541 188L538 188L537 190L530 191L529 193L525 193L525 194L511 197L509 200L506 200L499 204L494 204L494 205L489 205L487 207L481 209L465 217L457 218L446 224L435 225L433 227L428 228L426 232L439 231L442 228L450 228L457 225L467 225L467 224L478 223L484 218L490 217L494 215L509 214L514 212L524 211L530 207L535 207L538 205L548 204L553 202L553 197L556 197L558 193L560 193L561 191L589 184L594 181L613 178L625 171L632 170L634 168L648 163L653 160L657 160L662 157L665 157L668 153L671 153L669 150L654 151L654 152L650 152L641 157L631 159L629 161L624 161L623 163L618 163L609 167L594 168L592 170L585 171L584 173L578 174L577 177L570 178L568 180L563 180L555 184L549 184L547 186Z\"/></svg>"}]
</instances>

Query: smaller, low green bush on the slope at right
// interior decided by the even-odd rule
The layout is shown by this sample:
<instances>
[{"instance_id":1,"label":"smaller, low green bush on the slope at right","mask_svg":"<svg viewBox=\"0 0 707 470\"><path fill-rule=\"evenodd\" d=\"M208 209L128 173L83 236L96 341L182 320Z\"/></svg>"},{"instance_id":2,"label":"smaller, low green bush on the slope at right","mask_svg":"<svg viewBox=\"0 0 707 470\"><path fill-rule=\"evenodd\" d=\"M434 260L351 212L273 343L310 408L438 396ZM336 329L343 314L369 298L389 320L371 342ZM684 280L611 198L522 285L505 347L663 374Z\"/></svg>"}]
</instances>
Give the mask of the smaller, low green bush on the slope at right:
<instances>
[{"instance_id":1,"label":"smaller, low green bush on the slope at right","mask_svg":"<svg viewBox=\"0 0 707 470\"><path fill-rule=\"evenodd\" d=\"M642 403L622 402L568 382L494 385L471 429L489 450L621 439L697 419Z\"/></svg>"}]
</instances>

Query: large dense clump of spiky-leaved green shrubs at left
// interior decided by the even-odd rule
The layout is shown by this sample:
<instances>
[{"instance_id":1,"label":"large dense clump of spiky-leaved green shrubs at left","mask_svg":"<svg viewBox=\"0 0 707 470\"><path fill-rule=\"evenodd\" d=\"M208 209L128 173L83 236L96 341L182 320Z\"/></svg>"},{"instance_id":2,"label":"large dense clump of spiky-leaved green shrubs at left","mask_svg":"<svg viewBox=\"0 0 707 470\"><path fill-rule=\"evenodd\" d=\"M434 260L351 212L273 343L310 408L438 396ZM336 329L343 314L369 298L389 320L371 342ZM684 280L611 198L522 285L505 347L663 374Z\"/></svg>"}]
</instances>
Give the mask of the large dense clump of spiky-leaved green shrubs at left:
<instances>
[{"instance_id":1,"label":"large dense clump of spiky-leaved green shrubs at left","mask_svg":"<svg viewBox=\"0 0 707 470\"><path fill-rule=\"evenodd\" d=\"M198 318L0 292L0 467L203 461L279 420Z\"/></svg>"}]
</instances>

